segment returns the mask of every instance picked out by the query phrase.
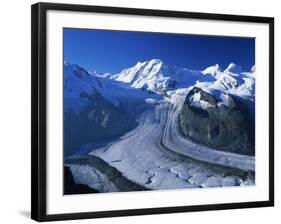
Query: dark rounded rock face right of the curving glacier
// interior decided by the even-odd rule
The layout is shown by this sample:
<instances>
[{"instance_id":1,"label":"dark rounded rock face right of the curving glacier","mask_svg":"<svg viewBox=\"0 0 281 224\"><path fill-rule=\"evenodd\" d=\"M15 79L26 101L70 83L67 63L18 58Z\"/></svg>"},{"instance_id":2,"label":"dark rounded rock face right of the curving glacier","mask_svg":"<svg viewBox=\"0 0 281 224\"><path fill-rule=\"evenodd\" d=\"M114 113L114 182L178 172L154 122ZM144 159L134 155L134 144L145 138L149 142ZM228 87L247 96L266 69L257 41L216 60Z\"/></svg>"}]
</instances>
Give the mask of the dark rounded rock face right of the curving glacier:
<instances>
[{"instance_id":1,"label":"dark rounded rock face right of the curving glacier","mask_svg":"<svg viewBox=\"0 0 281 224\"><path fill-rule=\"evenodd\" d=\"M191 105L191 97L200 93L200 100L211 106L202 109ZM179 115L184 136L209 147L245 155L255 154L255 105L229 95L229 105L217 106L215 96L194 87L185 99Z\"/></svg>"}]
</instances>

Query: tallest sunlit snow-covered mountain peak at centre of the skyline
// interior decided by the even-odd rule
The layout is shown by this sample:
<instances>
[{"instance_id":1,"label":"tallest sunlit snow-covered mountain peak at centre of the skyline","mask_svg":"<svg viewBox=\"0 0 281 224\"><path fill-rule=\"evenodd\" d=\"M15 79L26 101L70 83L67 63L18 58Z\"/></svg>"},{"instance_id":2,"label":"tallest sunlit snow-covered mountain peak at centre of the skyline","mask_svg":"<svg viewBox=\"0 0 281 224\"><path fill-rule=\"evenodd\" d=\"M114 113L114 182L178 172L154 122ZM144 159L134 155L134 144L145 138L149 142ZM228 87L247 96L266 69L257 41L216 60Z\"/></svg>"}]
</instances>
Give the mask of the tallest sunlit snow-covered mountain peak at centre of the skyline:
<instances>
[{"instance_id":1,"label":"tallest sunlit snow-covered mountain peak at centre of the skyline","mask_svg":"<svg viewBox=\"0 0 281 224\"><path fill-rule=\"evenodd\" d=\"M128 83L133 88L160 94L177 88L187 88L198 80L215 80L214 77L203 75L200 71L167 65L160 59L138 62L135 66L114 75L113 79Z\"/></svg>"}]
</instances>

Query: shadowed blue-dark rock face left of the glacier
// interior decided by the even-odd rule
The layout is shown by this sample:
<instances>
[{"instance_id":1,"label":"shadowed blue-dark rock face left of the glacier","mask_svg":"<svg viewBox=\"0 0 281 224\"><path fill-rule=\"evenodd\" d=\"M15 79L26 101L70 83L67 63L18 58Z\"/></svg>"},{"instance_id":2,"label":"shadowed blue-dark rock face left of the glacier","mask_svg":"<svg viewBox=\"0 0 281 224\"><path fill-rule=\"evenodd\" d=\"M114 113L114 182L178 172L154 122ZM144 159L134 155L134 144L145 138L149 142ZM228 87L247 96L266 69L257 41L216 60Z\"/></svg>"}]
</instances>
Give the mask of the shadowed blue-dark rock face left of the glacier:
<instances>
[{"instance_id":1,"label":"shadowed blue-dark rock face left of the glacier","mask_svg":"<svg viewBox=\"0 0 281 224\"><path fill-rule=\"evenodd\" d=\"M114 106L99 93L82 92L80 97L87 98L87 107L79 114L64 111L64 156L72 155L84 144L118 137L136 125L122 104Z\"/></svg>"}]
</instances>

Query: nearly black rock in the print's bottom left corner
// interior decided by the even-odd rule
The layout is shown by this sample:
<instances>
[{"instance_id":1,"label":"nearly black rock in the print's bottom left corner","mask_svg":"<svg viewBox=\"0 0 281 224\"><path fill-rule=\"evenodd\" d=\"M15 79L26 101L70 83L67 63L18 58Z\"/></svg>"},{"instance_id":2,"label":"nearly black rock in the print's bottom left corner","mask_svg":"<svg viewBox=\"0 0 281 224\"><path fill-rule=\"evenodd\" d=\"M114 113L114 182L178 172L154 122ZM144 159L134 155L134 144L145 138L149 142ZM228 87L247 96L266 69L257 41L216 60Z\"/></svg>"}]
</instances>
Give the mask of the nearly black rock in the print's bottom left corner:
<instances>
[{"instance_id":1,"label":"nearly black rock in the print's bottom left corner","mask_svg":"<svg viewBox=\"0 0 281 224\"><path fill-rule=\"evenodd\" d=\"M76 184L69 167L64 166L64 194L98 193L85 184Z\"/></svg>"}]
</instances>

